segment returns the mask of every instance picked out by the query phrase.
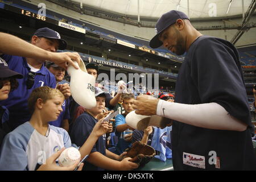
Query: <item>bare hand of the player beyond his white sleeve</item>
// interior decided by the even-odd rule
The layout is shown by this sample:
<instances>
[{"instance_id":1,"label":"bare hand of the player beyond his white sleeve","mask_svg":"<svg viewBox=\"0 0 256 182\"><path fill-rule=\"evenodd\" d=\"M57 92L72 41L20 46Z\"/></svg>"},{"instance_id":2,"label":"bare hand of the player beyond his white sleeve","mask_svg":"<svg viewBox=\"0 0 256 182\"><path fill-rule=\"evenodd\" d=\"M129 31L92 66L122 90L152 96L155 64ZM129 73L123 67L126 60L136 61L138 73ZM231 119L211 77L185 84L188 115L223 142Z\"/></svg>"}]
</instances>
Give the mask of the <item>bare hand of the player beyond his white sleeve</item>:
<instances>
[{"instance_id":1,"label":"bare hand of the player beyond his white sleeve","mask_svg":"<svg viewBox=\"0 0 256 182\"><path fill-rule=\"evenodd\" d=\"M133 101L133 109L135 109L136 114L155 115L157 106L158 100L152 96L138 96L136 100Z\"/></svg>"}]
</instances>

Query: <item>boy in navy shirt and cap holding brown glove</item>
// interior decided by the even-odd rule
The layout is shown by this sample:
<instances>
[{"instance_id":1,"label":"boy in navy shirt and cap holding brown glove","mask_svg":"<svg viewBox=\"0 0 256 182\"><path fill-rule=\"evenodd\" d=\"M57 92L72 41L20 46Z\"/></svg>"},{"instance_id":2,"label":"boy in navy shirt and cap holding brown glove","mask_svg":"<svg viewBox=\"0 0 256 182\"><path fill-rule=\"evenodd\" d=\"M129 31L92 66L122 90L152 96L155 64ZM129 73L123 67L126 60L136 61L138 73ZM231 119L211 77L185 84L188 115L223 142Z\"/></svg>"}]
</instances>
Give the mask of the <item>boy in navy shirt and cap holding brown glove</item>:
<instances>
[{"instance_id":1,"label":"boy in navy shirt and cap holding brown glove","mask_svg":"<svg viewBox=\"0 0 256 182\"><path fill-rule=\"evenodd\" d=\"M81 114L73 123L71 130L71 140L77 146L80 146L86 138L93 133L92 129L98 122L96 119L98 114L101 114L105 107L106 94L100 88L95 88L95 96L97 105L92 109L85 109L85 112ZM123 159L124 152L121 155L116 155L106 149L106 135L102 135L98 138L96 144L93 146L90 155L84 165L84 170L100 171L104 169L108 170L131 170L137 168L138 165L129 162L131 158Z\"/></svg>"}]
</instances>

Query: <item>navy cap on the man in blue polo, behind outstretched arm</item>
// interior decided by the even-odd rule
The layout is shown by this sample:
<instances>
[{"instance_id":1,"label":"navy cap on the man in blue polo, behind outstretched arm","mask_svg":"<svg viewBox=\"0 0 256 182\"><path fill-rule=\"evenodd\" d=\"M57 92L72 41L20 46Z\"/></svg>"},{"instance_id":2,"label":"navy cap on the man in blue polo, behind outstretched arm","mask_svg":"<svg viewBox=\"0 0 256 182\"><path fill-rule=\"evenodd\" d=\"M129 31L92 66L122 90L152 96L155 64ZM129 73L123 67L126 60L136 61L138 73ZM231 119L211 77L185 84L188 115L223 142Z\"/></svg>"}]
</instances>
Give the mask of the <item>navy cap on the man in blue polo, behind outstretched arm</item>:
<instances>
[{"instance_id":1,"label":"navy cap on the man in blue polo, behind outstretched arm","mask_svg":"<svg viewBox=\"0 0 256 182\"><path fill-rule=\"evenodd\" d=\"M67 48L67 42L64 39L60 38L60 34L50 28L44 27L44 28L39 28L36 30L35 34L38 37L43 37L43 38L49 38L49 39L57 39L59 40L59 49L64 50Z\"/></svg>"}]
</instances>

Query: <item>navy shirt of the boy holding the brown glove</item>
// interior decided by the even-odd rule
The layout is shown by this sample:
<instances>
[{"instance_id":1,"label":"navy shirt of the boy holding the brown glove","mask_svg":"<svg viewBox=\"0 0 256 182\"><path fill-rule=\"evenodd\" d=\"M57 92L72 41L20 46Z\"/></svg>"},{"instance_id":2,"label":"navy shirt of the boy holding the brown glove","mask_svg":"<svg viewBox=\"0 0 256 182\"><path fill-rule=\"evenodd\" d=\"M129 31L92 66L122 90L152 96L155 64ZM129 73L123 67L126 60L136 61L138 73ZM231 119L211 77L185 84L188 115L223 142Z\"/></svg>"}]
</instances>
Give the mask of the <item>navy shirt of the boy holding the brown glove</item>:
<instances>
[{"instance_id":1,"label":"navy shirt of the boy holding the brown glove","mask_svg":"<svg viewBox=\"0 0 256 182\"><path fill-rule=\"evenodd\" d=\"M70 133L71 141L77 146L82 146L86 139L92 133L93 127L98 122L98 119L94 118L89 113L84 112L73 123L73 127ZM102 135L98 138L96 144L92 148L92 152L100 152L102 155L106 155L106 135ZM85 162L83 170L104 170L89 162Z\"/></svg>"}]
</instances>

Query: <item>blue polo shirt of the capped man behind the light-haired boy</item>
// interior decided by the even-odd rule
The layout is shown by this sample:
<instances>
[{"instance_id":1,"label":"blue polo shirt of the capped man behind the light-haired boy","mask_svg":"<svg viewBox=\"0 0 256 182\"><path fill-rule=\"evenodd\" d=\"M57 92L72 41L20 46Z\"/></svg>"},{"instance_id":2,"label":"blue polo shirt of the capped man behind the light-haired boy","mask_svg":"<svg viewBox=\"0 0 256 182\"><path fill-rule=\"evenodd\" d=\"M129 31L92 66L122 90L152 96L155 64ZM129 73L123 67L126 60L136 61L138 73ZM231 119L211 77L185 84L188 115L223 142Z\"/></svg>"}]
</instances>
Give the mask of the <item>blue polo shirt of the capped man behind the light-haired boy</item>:
<instances>
[{"instance_id":1,"label":"blue polo shirt of the capped man behind the light-haired boy","mask_svg":"<svg viewBox=\"0 0 256 182\"><path fill-rule=\"evenodd\" d=\"M22 79L17 79L19 86L13 92L9 93L9 97L5 101L0 101L0 105L6 106L10 112L9 115L9 126L11 130L14 130L17 126L30 120L31 113L28 110L27 100L32 90L39 86L49 86L55 88L56 80L51 72L44 66L36 72L34 85L31 89L27 88L26 82L28 79L28 67L25 57L1 55L1 57L8 64L9 69L18 72L23 75Z\"/></svg>"}]
</instances>

